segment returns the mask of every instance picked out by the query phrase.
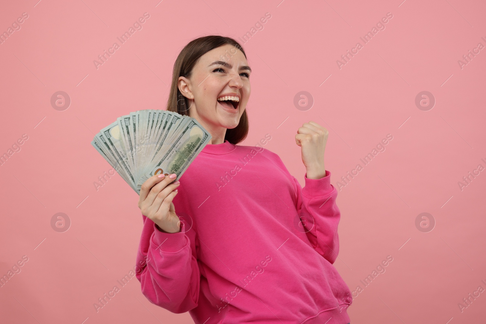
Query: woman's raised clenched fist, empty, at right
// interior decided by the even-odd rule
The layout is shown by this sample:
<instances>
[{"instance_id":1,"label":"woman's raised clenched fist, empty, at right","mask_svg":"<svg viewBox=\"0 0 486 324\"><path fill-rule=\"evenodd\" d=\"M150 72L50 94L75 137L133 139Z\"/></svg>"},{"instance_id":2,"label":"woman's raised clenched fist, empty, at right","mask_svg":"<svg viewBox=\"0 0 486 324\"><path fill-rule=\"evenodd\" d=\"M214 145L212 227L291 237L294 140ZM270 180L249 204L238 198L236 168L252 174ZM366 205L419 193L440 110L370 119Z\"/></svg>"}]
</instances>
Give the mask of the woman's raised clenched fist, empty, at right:
<instances>
[{"instance_id":1,"label":"woman's raised clenched fist, empty, at right","mask_svg":"<svg viewBox=\"0 0 486 324\"><path fill-rule=\"evenodd\" d=\"M329 132L314 121L299 127L295 143L302 148L302 162L307 170L308 179L320 179L326 176L324 150Z\"/></svg>"}]
</instances>

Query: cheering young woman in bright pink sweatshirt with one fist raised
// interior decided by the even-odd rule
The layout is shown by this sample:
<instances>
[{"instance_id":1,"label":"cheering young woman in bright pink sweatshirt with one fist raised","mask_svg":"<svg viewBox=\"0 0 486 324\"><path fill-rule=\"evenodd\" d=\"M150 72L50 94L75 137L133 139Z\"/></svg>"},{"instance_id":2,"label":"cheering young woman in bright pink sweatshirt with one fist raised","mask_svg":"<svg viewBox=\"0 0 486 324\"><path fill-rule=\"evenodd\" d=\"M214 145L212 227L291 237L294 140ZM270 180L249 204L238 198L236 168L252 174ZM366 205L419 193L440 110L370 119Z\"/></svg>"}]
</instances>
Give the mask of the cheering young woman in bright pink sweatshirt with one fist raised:
<instances>
[{"instance_id":1,"label":"cheering young woman in bright pink sweatshirt with one fist raised","mask_svg":"<svg viewBox=\"0 0 486 324\"><path fill-rule=\"evenodd\" d=\"M350 290L332 266L341 215L324 168L328 132L313 121L297 130L304 188L263 149L270 134L236 145L248 133L250 74L228 37L194 39L177 57L167 110L212 139L180 181L160 174L141 188L141 290L198 324L347 324Z\"/></svg>"}]
</instances>

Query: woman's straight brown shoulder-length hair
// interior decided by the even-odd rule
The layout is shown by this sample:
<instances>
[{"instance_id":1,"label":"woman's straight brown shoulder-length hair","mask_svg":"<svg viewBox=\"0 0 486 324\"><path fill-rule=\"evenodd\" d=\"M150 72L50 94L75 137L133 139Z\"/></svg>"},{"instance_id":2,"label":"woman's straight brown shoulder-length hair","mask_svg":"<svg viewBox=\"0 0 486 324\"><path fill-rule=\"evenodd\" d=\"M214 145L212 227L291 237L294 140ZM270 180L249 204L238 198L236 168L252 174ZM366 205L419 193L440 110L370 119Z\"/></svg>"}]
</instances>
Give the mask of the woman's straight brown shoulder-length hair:
<instances>
[{"instance_id":1,"label":"woman's straight brown shoulder-length hair","mask_svg":"<svg viewBox=\"0 0 486 324\"><path fill-rule=\"evenodd\" d=\"M169 99L167 100L167 110L176 112L181 115L189 116L189 108L187 98L184 97L177 86L179 77L183 76L190 78L192 74L192 68L196 65L198 59L206 54L208 51L214 50L225 44L233 45L238 50L243 52L244 57L246 54L243 51L243 47L236 40L230 37L224 37L220 35L208 35L191 40L179 53L174 63L174 69L172 72L171 91L169 93ZM205 125L202 125L203 127ZM226 129L225 139L232 144L237 144L248 135L248 116L246 115L246 109L240 118L238 126L235 128Z\"/></svg>"}]
</instances>

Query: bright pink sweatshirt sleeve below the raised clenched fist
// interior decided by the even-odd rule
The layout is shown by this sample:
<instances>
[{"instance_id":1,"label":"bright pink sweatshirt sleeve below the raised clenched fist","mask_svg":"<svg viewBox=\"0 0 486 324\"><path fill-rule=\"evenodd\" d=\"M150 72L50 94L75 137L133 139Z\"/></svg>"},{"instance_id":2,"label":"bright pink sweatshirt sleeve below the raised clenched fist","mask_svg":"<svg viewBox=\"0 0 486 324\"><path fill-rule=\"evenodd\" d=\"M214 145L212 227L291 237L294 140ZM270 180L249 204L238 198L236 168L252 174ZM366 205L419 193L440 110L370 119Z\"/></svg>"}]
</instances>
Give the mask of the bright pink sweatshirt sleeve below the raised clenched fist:
<instances>
[{"instance_id":1,"label":"bright pink sweatshirt sleeve below the raised clenched fist","mask_svg":"<svg viewBox=\"0 0 486 324\"><path fill-rule=\"evenodd\" d=\"M296 208L312 247L331 264L339 253L337 227L341 212L336 205L337 189L330 183L330 171L321 179L304 176L302 188L294 178L297 187Z\"/></svg>"}]
</instances>

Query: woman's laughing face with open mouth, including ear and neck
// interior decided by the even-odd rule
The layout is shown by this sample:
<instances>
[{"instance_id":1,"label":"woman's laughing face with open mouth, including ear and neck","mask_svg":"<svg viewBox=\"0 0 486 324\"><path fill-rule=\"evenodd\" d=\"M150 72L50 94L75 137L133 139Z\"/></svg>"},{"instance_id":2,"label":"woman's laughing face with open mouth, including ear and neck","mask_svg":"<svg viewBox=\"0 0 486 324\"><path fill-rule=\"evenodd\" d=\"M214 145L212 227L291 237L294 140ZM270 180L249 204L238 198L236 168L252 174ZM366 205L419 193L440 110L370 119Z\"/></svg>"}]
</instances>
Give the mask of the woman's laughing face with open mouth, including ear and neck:
<instances>
[{"instance_id":1,"label":"woman's laughing face with open mouth, including ear and neck","mask_svg":"<svg viewBox=\"0 0 486 324\"><path fill-rule=\"evenodd\" d=\"M226 44L201 56L189 79L179 77L189 116L211 133L212 143L222 143L226 129L238 125L250 97L250 73L243 52Z\"/></svg>"}]
</instances>

